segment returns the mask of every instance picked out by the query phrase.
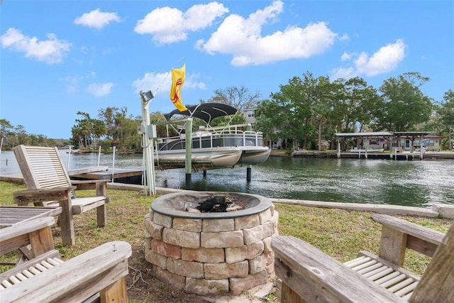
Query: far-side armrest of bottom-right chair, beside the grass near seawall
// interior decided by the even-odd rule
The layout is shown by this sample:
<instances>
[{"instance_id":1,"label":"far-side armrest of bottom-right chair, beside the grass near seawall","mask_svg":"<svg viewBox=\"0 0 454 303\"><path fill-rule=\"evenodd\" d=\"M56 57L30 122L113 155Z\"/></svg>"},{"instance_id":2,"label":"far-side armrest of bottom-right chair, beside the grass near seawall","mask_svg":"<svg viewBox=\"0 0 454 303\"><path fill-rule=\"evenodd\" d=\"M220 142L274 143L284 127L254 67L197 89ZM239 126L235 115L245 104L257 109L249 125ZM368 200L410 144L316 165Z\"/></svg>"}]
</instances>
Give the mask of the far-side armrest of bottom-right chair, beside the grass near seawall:
<instances>
[{"instance_id":1,"label":"far-side armrest of bottom-right chair, beside the grass near seawall","mask_svg":"<svg viewBox=\"0 0 454 303\"><path fill-rule=\"evenodd\" d=\"M442 233L441 231L435 231L431 228L414 224L394 216L388 216L386 214L373 214L372 219L375 222L388 226L396 231L406 233L409 236L419 238L423 241L427 241L428 243L436 244L436 246L439 246L445 237L445 233Z\"/></svg>"}]
</instances>

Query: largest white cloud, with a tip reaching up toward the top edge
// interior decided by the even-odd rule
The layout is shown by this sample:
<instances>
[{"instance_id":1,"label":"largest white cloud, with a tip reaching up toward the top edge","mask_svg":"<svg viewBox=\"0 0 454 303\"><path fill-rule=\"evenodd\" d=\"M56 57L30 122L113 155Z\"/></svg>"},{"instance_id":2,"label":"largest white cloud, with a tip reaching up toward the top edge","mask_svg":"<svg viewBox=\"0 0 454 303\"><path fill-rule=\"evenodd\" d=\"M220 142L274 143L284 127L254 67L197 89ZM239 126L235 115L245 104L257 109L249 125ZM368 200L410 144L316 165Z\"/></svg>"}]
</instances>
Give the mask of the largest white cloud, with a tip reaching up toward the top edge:
<instances>
[{"instance_id":1,"label":"largest white cloud, with a tip reaching up toward the top edge","mask_svg":"<svg viewBox=\"0 0 454 303\"><path fill-rule=\"evenodd\" d=\"M308 58L333 45L336 33L325 22L309 23L305 28L289 26L284 31L261 35L262 27L283 11L284 2L274 1L248 18L232 14L208 41L197 41L206 53L233 55L232 65L260 65L292 58Z\"/></svg>"}]
</instances>

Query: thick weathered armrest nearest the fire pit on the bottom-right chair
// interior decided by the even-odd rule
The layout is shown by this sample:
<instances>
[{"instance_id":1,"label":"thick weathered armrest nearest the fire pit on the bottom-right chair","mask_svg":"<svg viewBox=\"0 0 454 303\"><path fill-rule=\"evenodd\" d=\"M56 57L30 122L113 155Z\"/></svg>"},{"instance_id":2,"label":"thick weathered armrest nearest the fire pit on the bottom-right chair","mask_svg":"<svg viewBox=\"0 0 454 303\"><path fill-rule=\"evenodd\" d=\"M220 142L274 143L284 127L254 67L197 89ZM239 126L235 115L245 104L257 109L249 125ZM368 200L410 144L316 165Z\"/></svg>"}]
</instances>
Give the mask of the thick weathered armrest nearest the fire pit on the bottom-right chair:
<instances>
[{"instance_id":1,"label":"thick weathered armrest nearest the fire pit on the bottom-right chair","mask_svg":"<svg viewBox=\"0 0 454 303\"><path fill-rule=\"evenodd\" d=\"M277 277L305 302L399 302L394 294L299 238L277 236L271 247Z\"/></svg>"}]
</instances>

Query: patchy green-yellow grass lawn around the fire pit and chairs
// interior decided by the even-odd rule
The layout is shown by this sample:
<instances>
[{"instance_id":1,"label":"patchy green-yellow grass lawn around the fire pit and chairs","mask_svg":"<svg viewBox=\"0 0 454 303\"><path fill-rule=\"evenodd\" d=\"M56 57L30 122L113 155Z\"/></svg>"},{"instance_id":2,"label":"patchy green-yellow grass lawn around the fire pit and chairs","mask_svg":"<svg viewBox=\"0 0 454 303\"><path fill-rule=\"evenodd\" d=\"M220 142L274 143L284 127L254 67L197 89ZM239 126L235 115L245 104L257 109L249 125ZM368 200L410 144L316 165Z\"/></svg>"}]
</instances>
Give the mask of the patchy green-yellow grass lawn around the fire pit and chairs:
<instances>
[{"instance_id":1,"label":"patchy green-yellow grass lawn around the fire pit and chairs","mask_svg":"<svg viewBox=\"0 0 454 303\"><path fill-rule=\"evenodd\" d=\"M0 205L13 205L13 192L26 189L19 184L0 182ZM171 292L157 282L156 289L148 283L135 283L143 277L151 276L146 269L143 257L143 244L145 232L143 220L148 213L153 197L144 197L137 192L108 189L111 202L107 204L107 225L104 228L96 227L96 211L88 211L81 216L74 216L74 230L76 244L63 247L61 233L58 226L52 228L55 247L60 251L63 260L73 258L76 255L99 246L102 243L119 240L131 243L133 256L129 262L130 275L128 290L131 302L159 302L153 299L143 299L151 292ZM94 191L78 192L79 196L94 195ZM372 213L359 211L343 211L338 209L322 209L316 207L275 204L279 211L279 233L281 235L295 236L311 245L319 248L333 258L344 262L355 257L359 250L369 250L377 253L380 243L380 224L376 224L370 218ZM447 231L453 220L432 219L413 216L399 216L402 219L416 224L428 226L438 231ZM410 253L406 259L404 268L421 275L428 264L428 258L418 253ZM1 271L6 270L1 268ZM140 290L138 290L140 288ZM175 296L184 296L178 293ZM155 296L155 294L153 294ZM270 299L273 302L273 299ZM170 302L193 302L189 299ZM194 299L194 302L197 302ZM200 302L200 300L199 300Z\"/></svg>"}]
</instances>

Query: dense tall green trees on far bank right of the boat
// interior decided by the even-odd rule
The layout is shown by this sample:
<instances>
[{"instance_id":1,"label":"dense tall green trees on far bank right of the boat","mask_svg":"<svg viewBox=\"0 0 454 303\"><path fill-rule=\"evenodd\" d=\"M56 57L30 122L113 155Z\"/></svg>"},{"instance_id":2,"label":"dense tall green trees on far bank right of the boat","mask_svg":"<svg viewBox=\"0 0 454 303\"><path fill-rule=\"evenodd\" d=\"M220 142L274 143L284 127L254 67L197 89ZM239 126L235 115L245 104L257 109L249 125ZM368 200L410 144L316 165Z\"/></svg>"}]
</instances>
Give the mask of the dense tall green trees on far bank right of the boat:
<instances>
[{"instance_id":1,"label":"dense tall green trees on far bank right of the boat","mask_svg":"<svg viewBox=\"0 0 454 303\"><path fill-rule=\"evenodd\" d=\"M335 133L433 131L447 136L442 144L452 150L454 92L436 101L421 89L429 80L408 72L375 89L360 77L331 82L306 72L260 101L255 127L272 141L284 139L289 148L321 150L322 141L334 148Z\"/></svg>"}]
</instances>

